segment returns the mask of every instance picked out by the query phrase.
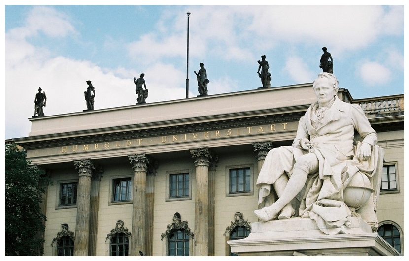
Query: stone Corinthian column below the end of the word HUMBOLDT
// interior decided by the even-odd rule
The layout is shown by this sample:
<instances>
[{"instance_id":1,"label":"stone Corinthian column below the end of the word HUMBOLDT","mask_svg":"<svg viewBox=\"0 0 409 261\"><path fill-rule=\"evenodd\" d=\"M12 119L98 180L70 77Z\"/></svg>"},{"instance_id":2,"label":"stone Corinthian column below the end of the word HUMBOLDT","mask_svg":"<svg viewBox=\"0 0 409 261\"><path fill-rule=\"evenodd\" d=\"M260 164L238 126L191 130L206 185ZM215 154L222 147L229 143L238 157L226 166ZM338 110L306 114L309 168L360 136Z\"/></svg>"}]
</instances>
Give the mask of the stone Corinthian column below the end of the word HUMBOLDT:
<instances>
[{"instance_id":1,"label":"stone Corinthian column below the end of the word HUMBOLDT","mask_svg":"<svg viewBox=\"0 0 409 261\"><path fill-rule=\"evenodd\" d=\"M146 173L148 158L144 153L128 156L134 170L132 237L130 256L146 253Z\"/></svg>"}]
</instances>

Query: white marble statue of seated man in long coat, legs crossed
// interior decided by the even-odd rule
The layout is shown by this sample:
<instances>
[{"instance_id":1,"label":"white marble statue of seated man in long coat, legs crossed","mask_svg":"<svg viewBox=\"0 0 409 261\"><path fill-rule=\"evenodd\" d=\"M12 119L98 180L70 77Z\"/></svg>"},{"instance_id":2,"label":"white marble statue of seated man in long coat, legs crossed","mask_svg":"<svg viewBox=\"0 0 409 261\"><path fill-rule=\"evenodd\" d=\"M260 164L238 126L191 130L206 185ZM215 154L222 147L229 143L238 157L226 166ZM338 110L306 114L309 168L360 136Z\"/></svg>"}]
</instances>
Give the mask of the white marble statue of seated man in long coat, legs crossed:
<instances>
[{"instance_id":1,"label":"white marble statue of seated man in long coat, legs crossed","mask_svg":"<svg viewBox=\"0 0 409 261\"><path fill-rule=\"evenodd\" d=\"M261 221L316 219L316 215L325 220L331 215L330 222L342 224L351 216L343 188L353 174L368 167L365 162L371 161L377 134L358 105L337 97L338 80L333 74L320 73L312 87L317 101L301 117L292 146L270 150L260 170L261 209L254 213ZM355 131L362 139L358 146ZM271 194L275 199L269 203ZM320 213L318 207L332 207L334 213L328 208Z\"/></svg>"}]
</instances>

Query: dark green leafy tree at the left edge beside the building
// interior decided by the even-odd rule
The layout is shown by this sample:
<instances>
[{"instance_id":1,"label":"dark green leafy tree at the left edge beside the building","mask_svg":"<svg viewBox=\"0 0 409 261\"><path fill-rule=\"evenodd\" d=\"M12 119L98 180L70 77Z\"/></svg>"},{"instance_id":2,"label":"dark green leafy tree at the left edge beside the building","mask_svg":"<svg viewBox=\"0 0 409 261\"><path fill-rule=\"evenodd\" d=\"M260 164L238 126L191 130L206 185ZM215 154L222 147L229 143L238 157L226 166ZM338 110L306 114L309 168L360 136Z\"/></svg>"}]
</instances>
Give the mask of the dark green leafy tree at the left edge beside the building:
<instances>
[{"instance_id":1,"label":"dark green leafy tree at the left edge beside the building","mask_svg":"<svg viewBox=\"0 0 409 261\"><path fill-rule=\"evenodd\" d=\"M5 256L38 256L44 253L46 217L40 203L50 183L44 170L30 165L16 144L5 145Z\"/></svg>"}]
</instances>

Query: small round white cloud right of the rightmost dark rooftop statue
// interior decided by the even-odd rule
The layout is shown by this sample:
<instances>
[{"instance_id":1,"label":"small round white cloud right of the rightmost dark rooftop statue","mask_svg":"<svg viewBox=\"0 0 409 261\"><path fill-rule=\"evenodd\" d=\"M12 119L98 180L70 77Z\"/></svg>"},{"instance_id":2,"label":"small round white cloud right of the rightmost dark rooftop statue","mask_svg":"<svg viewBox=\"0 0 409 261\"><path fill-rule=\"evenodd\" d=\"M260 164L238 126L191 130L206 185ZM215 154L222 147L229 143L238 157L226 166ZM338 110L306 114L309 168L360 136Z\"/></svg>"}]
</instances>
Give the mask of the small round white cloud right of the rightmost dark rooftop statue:
<instances>
[{"instance_id":1,"label":"small round white cloud right of the rightmost dark rooftop statue","mask_svg":"<svg viewBox=\"0 0 409 261\"><path fill-rule=\"evenodd\" d=\"M366 61L359 64L359 73L365 84L382 85L391 77L391 71L377 62Z\"/></svg>"}]
</instances>

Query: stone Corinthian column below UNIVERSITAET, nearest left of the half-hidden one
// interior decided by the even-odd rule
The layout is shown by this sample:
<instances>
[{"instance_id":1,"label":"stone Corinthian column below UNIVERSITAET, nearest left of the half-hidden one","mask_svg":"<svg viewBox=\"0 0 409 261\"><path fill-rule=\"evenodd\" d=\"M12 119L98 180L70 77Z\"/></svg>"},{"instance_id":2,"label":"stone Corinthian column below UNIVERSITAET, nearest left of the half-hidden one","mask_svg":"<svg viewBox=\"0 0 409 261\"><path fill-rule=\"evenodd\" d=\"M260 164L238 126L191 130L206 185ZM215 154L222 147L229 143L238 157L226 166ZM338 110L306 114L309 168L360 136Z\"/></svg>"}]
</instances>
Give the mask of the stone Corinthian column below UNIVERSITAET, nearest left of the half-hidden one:
<instances>
[{"instance_id":1,"label":"stone Corinthian column below UNIVERSITAET, nearest left of the half-hidden one","mask_svg":"<svg viewBox=\"0 0 409 261\"><path fill-rule=\"evenodd\" d=\"M191 149L196 166L195 256L209 255L209 166L208 148Z\"/></svg>"}]
</instances>

